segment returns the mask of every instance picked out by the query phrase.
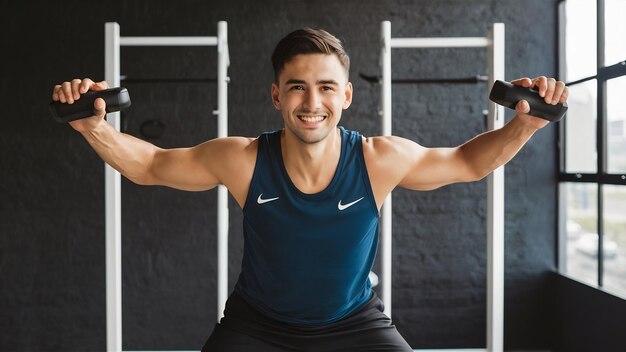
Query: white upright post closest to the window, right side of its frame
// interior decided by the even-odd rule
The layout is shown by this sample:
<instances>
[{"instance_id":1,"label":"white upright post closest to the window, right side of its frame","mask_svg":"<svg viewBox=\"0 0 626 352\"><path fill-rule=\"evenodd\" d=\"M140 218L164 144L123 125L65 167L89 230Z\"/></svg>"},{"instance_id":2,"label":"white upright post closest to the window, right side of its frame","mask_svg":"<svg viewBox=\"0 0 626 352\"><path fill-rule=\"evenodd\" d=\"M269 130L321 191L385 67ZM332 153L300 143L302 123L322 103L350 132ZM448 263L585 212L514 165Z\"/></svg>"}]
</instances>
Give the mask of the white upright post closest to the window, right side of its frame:
<instances>
[{"instance_id":1,"label":"white upright post closest to the window, right side of its frame","mask_svg":"<svg viewBox=\"0 0 626 352\"><path fill-rule=\"evenodd\" d=\"M504 79L504 23L489 31L489 87ZM489 101L489 99L486 99ZM504 125L504 107L489 101L487 129ZM504 167L487 179L487 351L504 348Z\"/></svg>"}]
</instances>

